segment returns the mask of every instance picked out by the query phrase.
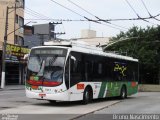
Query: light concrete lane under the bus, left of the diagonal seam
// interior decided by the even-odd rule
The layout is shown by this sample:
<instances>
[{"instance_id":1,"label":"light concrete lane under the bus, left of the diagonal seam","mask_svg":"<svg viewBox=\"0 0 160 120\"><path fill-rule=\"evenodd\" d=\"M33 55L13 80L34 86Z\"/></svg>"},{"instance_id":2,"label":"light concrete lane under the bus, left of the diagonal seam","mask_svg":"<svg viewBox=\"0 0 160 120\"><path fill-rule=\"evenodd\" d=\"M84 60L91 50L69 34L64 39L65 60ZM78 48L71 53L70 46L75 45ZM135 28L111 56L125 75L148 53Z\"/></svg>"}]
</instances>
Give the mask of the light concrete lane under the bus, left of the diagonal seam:
<instances>
[{"instance_id":1,"label":"light concrete lane under the bus, left of the diagonal seam","mask_svg":"<svg viewBox=\"0 0 160 120\"><path fill-rule=\"evenodd\" d=\"M26 98L24 90L0 91L0 114L54 114L56 119L73 119L119 102L117 99L101 99L88 105L82 105L80 102L50 104L48 101Z\"/></svg>"}]
</instances>

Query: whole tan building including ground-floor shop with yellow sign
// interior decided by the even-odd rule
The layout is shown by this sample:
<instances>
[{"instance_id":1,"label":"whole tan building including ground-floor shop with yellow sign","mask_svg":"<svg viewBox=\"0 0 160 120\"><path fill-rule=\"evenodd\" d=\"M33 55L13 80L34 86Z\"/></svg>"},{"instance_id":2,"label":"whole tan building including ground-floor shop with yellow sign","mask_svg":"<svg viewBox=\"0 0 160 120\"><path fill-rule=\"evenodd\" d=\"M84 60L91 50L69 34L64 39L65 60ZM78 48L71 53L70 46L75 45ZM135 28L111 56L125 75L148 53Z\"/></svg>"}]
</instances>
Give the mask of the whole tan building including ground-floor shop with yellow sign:
<instances>
[{"instance_id":1,"label":"whole tan building including ground-floor shop with yellow sign","mask_svg":"<svg viewBox=\"0 0 160 120\"><path fill-rule=\"evenodd\" d=\"M20 62L20 57L23 56L20 53L20 50L23 49L22 46L24 45L22 28L22 26L24 25L24 6L25 0L0 1L0 66L2 66L2 47L5 36L5 28L7 28L5 60L6 84L22 84L24 82L24 64ZM6 21L8 24L6 24ZM15 52L15 50L11 50L11 48L18 49L19 51Z\"/></svg>"}]
</instances>

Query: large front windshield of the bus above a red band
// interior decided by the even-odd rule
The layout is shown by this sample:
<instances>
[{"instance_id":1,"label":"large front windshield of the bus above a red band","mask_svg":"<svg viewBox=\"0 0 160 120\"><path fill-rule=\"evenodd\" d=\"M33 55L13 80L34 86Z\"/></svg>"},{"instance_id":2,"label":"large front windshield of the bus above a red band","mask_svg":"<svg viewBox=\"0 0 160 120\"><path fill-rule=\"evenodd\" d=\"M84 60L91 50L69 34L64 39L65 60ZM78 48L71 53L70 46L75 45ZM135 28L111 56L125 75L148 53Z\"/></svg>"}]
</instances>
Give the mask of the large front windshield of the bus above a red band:
<instances>
[{"instance_id":1,"label":"large front windshield of the bus above a red band","mask_svg":"<svg viewBox=\"0 0 160 120\"><path fill-rule=\"evenodd\" d=\"M63 81L66 50L33 49L30 53L27 80L32 85L56 86Z\"/></svg>"}]
</instances>

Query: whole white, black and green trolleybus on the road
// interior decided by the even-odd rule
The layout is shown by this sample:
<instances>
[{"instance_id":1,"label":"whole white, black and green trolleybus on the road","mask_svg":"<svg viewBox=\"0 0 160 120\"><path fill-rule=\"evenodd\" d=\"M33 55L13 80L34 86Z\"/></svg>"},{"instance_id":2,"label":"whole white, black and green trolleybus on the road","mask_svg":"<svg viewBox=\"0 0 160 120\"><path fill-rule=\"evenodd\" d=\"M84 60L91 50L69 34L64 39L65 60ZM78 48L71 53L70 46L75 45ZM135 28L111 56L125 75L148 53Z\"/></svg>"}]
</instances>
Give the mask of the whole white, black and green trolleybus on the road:
<instances>
[{"instance_id":1,"label":"whole white, black and green trolleybus on the road","mask_svg":"<svg viewBox=\"0 0 160 120\"><path fill-rule=\"evenodd\" d=\"M137 93L138 59L103 52L80 42L46 42L28 55L26 96L82 101Z\"/></svg>"}]
</instances>

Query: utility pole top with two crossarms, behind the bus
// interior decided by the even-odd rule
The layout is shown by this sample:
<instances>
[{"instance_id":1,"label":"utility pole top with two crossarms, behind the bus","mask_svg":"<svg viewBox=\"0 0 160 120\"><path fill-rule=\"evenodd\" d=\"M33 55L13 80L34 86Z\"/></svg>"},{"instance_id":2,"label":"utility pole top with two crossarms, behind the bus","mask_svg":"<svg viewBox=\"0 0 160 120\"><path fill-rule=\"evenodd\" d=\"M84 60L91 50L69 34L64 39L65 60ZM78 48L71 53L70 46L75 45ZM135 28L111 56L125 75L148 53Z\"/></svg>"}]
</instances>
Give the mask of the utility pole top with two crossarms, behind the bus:
<instances>
[{"instance_id":1,"label":"utility pole top with two crossarms, behind the bus","mask_svg":"<svg viewBox=\"0 0 160 120\"><path fill-rule=\"evenodd\" d=\"M61 33L55 33L55 25L58 24L62 24L62 22L49 22L49 40L51 40L51 38L53 38L54 40L56 40L56 35L62 35L65 34L65 32L61 32Z\"/></svg>"}]
</instances>

